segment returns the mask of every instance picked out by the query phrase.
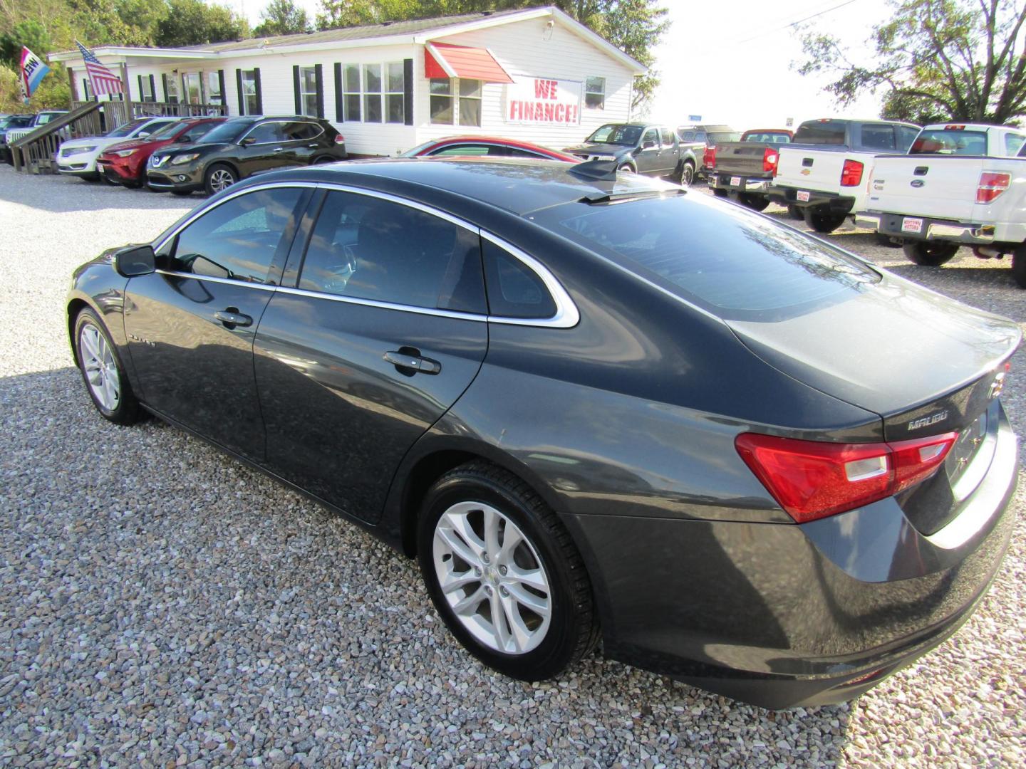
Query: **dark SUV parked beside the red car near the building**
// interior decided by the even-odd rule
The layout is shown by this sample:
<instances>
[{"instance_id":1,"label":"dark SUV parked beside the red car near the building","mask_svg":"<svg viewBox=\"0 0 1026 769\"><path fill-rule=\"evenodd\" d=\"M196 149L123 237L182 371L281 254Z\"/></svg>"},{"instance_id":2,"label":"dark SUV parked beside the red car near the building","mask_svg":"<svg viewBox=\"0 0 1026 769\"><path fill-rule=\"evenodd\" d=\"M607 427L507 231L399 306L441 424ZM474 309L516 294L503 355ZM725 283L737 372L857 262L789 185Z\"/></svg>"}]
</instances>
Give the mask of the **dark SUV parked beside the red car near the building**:
<instances>
[{"instance_id":1,"label":"dark SUV parked beside the red car near the building","mask_svg":"<svg viewBox=\"0 0 1026 769\"><path fill-rule=\"evenodd\" d=\"M263 171L347 157L345 137L326 120L252 115L226 120L200 144L158 150L150 156L146 176L151 190L213 195Z\"/></svg>"}]
</instances>

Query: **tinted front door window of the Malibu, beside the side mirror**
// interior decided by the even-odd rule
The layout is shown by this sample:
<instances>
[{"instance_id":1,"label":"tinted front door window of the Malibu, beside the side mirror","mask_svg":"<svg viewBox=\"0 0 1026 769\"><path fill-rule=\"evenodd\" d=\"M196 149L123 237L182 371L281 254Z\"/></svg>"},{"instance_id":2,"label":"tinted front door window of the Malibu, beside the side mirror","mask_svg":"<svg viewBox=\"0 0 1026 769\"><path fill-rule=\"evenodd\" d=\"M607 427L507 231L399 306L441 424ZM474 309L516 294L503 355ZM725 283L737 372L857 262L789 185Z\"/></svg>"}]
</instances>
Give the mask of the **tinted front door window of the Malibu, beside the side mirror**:
<instances>
[{"instance_id":1,"label":"tinted front door window of the Malibu, beside the side mirror","mask_svg":"<svg viewBox=\"0 0 1026 769\"><path fill-rule=\"evenodd\" d=\"M273 188L240 195L179 233L171 268L212 278L264 283L279 249L291 245L305 191Z\"/></svg>"}]
</instances>

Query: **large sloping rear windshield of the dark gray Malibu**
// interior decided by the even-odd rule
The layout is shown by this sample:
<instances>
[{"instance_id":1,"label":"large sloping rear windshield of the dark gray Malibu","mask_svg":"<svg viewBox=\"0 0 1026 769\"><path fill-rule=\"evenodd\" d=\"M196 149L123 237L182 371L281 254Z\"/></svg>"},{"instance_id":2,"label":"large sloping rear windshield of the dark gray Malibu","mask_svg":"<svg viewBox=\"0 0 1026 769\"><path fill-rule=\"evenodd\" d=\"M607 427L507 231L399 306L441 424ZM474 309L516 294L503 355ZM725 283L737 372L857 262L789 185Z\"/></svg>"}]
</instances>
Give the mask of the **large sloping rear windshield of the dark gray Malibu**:
<instances>
[{"instance_id":1,"label":"large sloping rear windshield of the dark gray Malibu","mask_svg":"<svg viewBox=\"0 0 1026 769\"><path fill-rule=\"evenodd\" d=\"M726 320L802 315L880 279L839 249L700 195L570 203L535 215L542 226Z\"/></svg>"}]
</instances>

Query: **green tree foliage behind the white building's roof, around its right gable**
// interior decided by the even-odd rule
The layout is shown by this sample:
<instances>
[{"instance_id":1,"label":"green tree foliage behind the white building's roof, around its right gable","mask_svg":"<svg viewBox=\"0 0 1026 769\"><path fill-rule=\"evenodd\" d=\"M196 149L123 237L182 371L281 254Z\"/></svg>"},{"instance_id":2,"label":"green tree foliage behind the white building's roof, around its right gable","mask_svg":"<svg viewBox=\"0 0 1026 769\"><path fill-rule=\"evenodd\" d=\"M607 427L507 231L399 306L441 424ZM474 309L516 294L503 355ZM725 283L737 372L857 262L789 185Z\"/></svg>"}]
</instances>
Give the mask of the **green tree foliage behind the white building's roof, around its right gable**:
<instances>
[{"instance_id":1,"label":"green tree foliage behind the white building's roof, around its right gable","mask_svg":"<svg viewBox=\"0 0 1026 769\"><path fill-rule=\"evenodd\" d=\"M670 28L667 10L659 0L321 0L317 27L324 30L541 5L555 5L649 68L655 60L653 48ZM635 109L652 97L659 81L654 69L634 81Z\"/></svg>"}]
</instances>

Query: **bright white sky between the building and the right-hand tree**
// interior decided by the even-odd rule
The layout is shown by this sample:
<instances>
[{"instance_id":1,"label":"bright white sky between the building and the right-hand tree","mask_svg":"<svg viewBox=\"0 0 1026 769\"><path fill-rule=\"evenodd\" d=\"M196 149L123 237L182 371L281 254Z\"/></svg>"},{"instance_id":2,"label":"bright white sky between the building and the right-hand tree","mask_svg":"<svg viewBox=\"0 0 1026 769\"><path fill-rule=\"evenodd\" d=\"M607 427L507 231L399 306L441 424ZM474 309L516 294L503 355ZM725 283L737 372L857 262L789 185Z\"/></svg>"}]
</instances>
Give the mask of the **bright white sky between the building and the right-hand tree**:
<instances>
[{"instance_id":1,"label":"bright white sky between the building and the right-hand tree","mask_svg":"<svg viewBox=\"0 0 1026 769\"><path fill-rule=\"evenodd\" d=\"M268 0L230 0L253 26ZM297 0L311 19L319 0ZM821 117L877 117L879 95L844 110L823 91L830 78L802 77L794 25L829 32L854 55L868 54L872 27L890 16L886 0L663 0L672 23L656 48L662 83L647 108L654 122L727 123L738 130L784 127ZM839 7L837 7L839 6ZM812 17L811 17L812 16ZM698 122L698 121L694 121Z\"/></svg>"}]
</instances>

